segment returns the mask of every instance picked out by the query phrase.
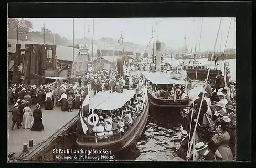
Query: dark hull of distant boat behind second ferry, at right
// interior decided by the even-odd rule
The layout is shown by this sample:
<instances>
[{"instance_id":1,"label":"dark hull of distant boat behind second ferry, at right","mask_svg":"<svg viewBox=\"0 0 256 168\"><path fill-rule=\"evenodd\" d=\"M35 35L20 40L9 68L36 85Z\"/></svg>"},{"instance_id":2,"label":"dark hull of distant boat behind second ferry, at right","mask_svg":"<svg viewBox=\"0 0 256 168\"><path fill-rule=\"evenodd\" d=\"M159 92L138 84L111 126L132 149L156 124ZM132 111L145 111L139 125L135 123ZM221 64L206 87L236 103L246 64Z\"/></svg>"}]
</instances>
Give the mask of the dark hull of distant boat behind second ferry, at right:
<instances>
[{"instance_id":1,"label":"dark hull of distant boat behind second ferry, at right","mask_svg":"<svg viewBox=\"0 0 256 168\"><path fill-rule=\"evenodd\" d=\"M196 74L197 74L197 80L204 81L207 78L208 70L201 70L198 69L186 69L188 77L192 80L196 80ZM221 71L221 70L219 70ZM218 70L210 70L209 78L208 79L216 79L219 73Z\"/></svg>"}]
</instances>

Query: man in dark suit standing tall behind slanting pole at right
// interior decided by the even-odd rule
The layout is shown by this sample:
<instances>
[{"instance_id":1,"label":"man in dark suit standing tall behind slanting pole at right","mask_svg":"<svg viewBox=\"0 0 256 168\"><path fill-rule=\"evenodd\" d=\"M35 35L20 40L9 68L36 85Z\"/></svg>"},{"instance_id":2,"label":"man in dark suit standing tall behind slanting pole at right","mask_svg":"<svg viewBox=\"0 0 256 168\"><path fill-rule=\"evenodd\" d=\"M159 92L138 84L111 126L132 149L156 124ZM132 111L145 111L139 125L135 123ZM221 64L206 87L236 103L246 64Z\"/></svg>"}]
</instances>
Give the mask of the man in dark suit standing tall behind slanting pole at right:
<instances>
[{"instance_id":1,"label":"man in dark suit standing tall behind slanting pole at right","mask_svg":"<svg viewBox=\"0 0 256 168\"><path fill-rule=\"evenodd\" d=\"M199 107L200 107L200 103L201 103L201 100L202 100L202 97L203 97L203 92L200 92L199 95L198 95L199 98L197 98L195 101L194 101L194 109L196 110L196 113L193 115L193 119L194 119L194 122L196 122L196 119L197 119L197 115L198 115L198 112L199 112ZM190 108L193 107L193 104L190 105ZM206 113L206 111L208 110L208 105L207 105L207 102L206 100L203 99L203 102L202 102L202 107L201 107L201 110L200 110L200 114L199 114L199 118L198 118L198 124L202 125L203 123L203 117L204 117L204 114Z\"/></svg>"}]
</instances>

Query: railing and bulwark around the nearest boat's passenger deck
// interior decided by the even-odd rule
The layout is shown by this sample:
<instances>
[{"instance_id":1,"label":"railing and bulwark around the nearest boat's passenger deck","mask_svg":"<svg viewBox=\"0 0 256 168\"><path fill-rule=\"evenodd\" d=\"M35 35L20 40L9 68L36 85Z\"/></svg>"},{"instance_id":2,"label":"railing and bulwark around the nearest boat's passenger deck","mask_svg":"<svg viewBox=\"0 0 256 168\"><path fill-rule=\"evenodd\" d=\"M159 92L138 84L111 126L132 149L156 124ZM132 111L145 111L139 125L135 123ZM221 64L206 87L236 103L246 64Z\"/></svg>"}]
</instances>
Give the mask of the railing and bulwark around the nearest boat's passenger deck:
<instances>
[{"instance_id":1,"label":"railing and bulwark around the nearest boat's passenger deck","mask_svg":"<svg viewBox=\"0 0 256 168\"><path fill-rule=\"evenodd\" d=\"M133 128L134 125L136 125L141 118L141 115L145 112L146 105L143 105L143 111L139 113L135 113L127 123L123 127L108 130L108 131L97 131L97 132L91 132L91 134L94 135L87 135L87 134L79 134L78 135L78 141L83 143L104 143L104 142L111 142L121 139L123 136L125 136L129 131ZM140 110L138 110L140 111ZM132 123L130 123L131 119L133 120ZM123 129L123 131L118 131L119 129ZM113 132L112 134L109 134L110 132ZM116 133L114 133L116 132ZM102 136L98 136L97 133L104 133Z\"/></svg>"}]
</instances>

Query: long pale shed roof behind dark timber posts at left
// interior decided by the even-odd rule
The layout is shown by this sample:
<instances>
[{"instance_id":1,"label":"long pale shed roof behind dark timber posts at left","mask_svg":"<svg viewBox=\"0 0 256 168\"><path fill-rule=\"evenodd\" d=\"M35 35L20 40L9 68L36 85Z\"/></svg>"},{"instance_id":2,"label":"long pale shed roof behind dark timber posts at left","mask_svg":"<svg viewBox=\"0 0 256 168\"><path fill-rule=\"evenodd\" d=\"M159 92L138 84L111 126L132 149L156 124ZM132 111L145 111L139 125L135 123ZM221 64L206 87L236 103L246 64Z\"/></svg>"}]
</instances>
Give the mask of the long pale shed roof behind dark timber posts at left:
<instances>
[{"instance_id":1,"label":"long pale shed roof behind dark timber posts at left","mask_svg":"<svg viewBox=\"0 0 256 168\"><path fill-rule=\"evenodd\" d=\"M9 47L8 52L9 53L15 53L16 52L16 43L17 40L14 39L8 39L9 44L11 44L11 47ZM34 41L20 41L18 40L19 44L22 44L22 49L25 48L25 44L40 44L38 42ZM74 57L76 57L79 49L74 48ZM61 46L57 45L56 47L56 55L57 59L59 60L65 60L65 61L73 61L73 56L72 56L72 47L67 47L67 46ZM24 54L24 52L22 52ZM49 50L49 58L52 58L52 52Z\"/></svg>"}]
</instances>

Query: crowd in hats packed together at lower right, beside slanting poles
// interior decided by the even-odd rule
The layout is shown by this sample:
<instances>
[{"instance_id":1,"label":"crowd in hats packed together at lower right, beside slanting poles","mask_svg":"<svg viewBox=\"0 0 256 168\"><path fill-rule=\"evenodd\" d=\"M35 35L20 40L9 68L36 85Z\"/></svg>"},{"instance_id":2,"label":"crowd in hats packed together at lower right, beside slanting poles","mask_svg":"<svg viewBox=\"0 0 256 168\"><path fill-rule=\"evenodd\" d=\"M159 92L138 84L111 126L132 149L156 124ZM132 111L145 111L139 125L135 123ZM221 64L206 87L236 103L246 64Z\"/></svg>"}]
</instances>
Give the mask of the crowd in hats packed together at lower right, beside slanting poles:
<instances>
[{"instance_id":1,"label":"crowd in hats packed together at lower right, beside slanting poles","mask_svg":"<svg viewBox=\"0 0 256 168\"><path fill-rule=\"evenodd\" d=\"M183 129L180 132L182 138L174 139L176 156L183 160L234 160L236 158L236 109L235 104L228 101L229 94L227 89L219 88L216 93L218 99L211 99L208 93L203 97L201 92L198 95L199 98L190 107L181 111ZM199 112L201 101L202 106ZM196 122L198 122L196 130L200 142L188 153L188 138L190 137L191 140ZM190 130L191 134L188 135Z\"/></svg>"}]
</instances>

